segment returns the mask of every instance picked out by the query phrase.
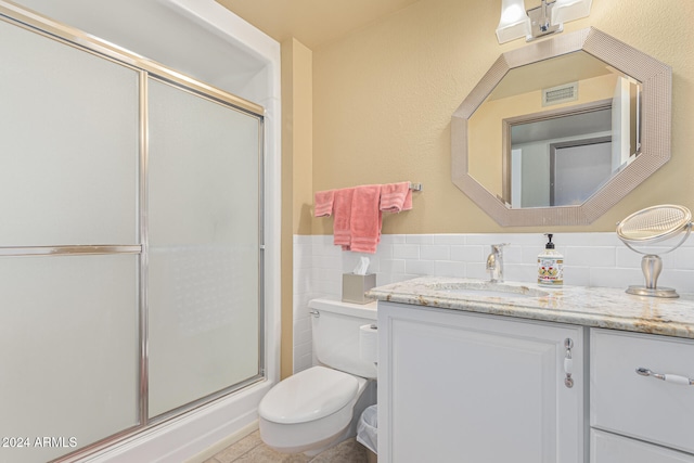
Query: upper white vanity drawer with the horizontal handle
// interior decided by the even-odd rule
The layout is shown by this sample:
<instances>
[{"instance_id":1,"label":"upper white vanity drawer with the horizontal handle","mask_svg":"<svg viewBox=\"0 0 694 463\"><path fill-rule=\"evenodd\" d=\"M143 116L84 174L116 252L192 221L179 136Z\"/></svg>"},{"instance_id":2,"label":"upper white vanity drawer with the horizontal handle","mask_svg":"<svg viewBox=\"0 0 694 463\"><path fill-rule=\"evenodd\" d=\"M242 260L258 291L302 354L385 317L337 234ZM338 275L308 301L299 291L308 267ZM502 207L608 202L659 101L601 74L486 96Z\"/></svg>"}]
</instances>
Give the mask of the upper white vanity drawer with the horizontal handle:
<instances>
[{"instance_id":1,"label":"upper white vanity drawer with the horizontal handle","mask_svg":"<svg viewBox=\"0 0 694 463\"><path fill-rule=\"evenodd\" d=\"M591 331L591 426L694 452L694 386L637 369L694 377L694 342Z\"/></svg>"}]
</instances>

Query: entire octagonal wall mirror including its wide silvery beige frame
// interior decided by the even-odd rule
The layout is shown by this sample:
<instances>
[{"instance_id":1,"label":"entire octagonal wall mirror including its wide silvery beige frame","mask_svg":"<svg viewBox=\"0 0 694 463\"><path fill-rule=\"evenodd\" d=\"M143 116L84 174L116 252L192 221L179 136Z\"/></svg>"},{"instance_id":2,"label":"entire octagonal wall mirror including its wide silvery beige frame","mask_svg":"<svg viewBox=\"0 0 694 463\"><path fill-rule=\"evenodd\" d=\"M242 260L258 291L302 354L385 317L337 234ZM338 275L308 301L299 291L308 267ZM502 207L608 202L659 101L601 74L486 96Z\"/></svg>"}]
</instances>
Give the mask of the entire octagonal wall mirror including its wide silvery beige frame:
<instances>
[{"instance_id":1,"label":"entire octagonal wall mirror including its wide silvery beige frame","mask_svg":"<svg viewBox=\"0 0 694 463\"><path fill-rule=\"evenodd\" d=\"M584 224L670 157L669 66L590 28L502 54L451 119L452 180L502 226Z\"/></svg>"}]
</instances>

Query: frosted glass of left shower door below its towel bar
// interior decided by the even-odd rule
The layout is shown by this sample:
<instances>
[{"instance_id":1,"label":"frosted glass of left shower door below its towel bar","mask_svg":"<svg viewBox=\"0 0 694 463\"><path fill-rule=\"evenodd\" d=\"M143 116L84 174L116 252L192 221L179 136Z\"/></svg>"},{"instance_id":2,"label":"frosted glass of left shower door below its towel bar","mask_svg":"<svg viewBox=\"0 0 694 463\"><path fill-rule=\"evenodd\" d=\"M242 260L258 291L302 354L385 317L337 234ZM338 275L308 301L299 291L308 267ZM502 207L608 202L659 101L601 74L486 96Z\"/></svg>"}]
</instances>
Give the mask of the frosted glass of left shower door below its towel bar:
<instances>
[{"instance_id":1,"label":"frosted glass of left shower door below its towel bar","mask_svg":"<svg viewBox=\"0 0 694 463\"><path fill-rule=\"evenodd\" d=\"M43 462L138 424L138 257L0 257L0 461ZM48 447L37 447L44 437Z\"/></svg>"}]
</instances>

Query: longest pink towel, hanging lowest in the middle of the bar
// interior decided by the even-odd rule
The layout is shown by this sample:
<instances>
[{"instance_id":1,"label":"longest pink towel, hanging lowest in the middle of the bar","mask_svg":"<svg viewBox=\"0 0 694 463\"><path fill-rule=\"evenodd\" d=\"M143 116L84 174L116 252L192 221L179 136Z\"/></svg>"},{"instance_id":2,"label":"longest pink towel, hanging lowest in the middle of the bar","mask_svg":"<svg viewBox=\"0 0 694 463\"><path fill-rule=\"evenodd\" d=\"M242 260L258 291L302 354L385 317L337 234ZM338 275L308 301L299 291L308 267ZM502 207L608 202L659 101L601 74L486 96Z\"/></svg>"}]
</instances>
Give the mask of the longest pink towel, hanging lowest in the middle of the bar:
<instances>
[{"instance_id":1,"label":"longest pink towel, hanging lowest in the middle of the bar","mask_svg":"<svg viewBox=\"0 0 694 463\"><path fill-rule=\"evenodd\" d=\"M351 244L355 253L375 254L381 242L382 215L378 208L381 185L364 185L355 189L351 202Z\"/></svg>"}]
</instances>

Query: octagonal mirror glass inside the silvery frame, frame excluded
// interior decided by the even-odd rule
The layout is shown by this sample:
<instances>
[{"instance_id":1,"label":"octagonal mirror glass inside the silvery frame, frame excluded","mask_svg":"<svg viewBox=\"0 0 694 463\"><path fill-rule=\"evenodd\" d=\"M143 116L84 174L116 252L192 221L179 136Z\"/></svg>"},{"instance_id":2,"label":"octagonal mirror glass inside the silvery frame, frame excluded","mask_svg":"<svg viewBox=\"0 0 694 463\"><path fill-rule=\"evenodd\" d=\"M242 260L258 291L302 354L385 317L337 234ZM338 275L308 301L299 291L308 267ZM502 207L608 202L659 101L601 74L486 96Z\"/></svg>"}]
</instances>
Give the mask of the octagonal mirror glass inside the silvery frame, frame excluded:
<instances>
[{"instance_id":1,"label":"octagonal mirror glass inside the silvery frame, frame excluded","mask_svg":"<svg viewBox=\"0 0 694 463\"><path fill-rule=\"evenodd\" d=\"M640 89L583 51L511 69L470 118L470 173L512 208L580 205L639 153Z\"/></svg>"}]
</instances>

